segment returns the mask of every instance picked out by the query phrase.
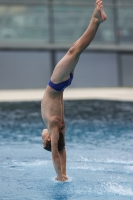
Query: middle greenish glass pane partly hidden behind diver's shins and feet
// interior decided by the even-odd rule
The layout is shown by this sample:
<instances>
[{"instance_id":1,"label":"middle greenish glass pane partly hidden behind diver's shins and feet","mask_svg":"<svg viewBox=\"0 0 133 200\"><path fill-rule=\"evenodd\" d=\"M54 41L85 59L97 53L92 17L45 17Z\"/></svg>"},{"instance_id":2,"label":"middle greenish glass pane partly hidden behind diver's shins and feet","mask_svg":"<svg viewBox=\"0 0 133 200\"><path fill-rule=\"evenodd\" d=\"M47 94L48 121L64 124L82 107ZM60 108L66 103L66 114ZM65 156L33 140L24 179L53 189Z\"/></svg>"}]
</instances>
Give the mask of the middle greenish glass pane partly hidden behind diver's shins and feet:
<instances>
[{"instance_id":1,"label":"middle greenish glass pane partly hidden behind diver's shins and feet","mask_svg":"<svg viewBox=\"0 0 133 200\"><path fill-rule=\"evenodd\" d=\"M108 21L99 28L94 42L114 42L113 8L105 8ZM74 42L89 25L94 6L54 6L55 42Z\"/></svg>"}]
</instances>

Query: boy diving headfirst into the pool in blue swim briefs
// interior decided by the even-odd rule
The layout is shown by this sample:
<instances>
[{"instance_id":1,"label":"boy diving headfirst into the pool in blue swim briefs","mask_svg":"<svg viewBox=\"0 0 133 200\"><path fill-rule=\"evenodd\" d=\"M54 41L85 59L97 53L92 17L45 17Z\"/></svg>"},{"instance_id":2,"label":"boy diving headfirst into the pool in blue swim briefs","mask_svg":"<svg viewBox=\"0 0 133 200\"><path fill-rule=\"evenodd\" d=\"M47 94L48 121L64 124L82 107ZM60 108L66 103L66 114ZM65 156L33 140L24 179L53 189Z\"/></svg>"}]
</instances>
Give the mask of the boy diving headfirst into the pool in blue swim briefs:
<instances>
[{"instance_id":1,"label":"boy diving headfirst into the pool in blue swim briefs","mask_svg":"<svg viewBox=\"0 0 133 200\"><path fill-rule=\"evenodd\" d=\"M74 69L81 53L93 40L99 25L106 20L103 3L96 1L90 24L56 65L46 87L42 102L42 119L47 129L42 131L44 149L52 152L57 181L66 181L66 150L63 92L73 79Z\"/></svg>"}]
</instances>

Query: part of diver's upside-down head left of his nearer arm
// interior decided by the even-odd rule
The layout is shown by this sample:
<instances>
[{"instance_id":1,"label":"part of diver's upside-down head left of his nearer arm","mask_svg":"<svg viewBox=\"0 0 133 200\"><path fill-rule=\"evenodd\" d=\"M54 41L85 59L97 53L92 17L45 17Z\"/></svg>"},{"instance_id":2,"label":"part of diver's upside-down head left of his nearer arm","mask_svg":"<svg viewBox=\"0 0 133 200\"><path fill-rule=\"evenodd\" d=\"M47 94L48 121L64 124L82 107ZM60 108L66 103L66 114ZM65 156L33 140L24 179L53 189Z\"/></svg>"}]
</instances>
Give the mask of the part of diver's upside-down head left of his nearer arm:
<instances>
[{"instance_id":1,"label":"part of diver's upside-down head left of his nearer arm","mask_svg":"<svg viewBox=\"0 0 133 200\"><path fill-rule=\"evenodd\" d=\"M42 131L42 140L44 149L51 151L51 136L47 129L43 129Z\"/></svg>"}]
</instances>

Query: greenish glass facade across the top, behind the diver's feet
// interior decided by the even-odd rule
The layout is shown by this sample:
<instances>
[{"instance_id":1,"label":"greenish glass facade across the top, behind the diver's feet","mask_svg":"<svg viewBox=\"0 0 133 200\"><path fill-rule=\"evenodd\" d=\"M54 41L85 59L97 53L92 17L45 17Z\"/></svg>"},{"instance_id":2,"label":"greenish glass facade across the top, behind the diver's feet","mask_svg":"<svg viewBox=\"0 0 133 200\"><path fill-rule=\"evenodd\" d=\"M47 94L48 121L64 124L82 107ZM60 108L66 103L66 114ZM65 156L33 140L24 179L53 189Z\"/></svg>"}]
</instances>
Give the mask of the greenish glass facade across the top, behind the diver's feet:
<instances>
[{"instance_id":1,"label":"greenish glass facade across the top, behind the diver's feet","mask_svg":"<svg viewBox=\"0 0 133 200\"><path fill-rule=\"evenodd\" d=\"M108 21L95 43L133 44L133 1L106 0ZM0 40L42 40L71 43L84 32L94 0L3 0L0 1Z\"/></svg>"}]
</instances>

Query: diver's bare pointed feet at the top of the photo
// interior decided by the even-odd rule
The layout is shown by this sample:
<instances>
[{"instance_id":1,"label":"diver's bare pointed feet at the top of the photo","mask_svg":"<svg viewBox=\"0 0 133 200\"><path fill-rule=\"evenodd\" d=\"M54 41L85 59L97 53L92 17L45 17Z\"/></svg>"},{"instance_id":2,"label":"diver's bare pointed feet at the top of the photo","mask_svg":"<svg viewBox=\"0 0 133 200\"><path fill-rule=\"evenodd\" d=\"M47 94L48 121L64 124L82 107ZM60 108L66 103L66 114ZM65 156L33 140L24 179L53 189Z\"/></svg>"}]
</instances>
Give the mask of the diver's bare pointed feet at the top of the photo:
<instances>
[{"instance_id":1,"label":"diver's bare pointed feet at the top of the photo","mask_svg":"<svg viewBox=\"0 0 133 200\"><path fill-rule=\"evenodd\" d=\"M102 23L107 19L107 16L104 12L103 3L101 0L96 1L96 8L93 13L93 18L97 19L98 23Z\"/></svg>"}]
</instances>

